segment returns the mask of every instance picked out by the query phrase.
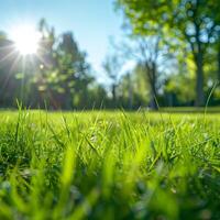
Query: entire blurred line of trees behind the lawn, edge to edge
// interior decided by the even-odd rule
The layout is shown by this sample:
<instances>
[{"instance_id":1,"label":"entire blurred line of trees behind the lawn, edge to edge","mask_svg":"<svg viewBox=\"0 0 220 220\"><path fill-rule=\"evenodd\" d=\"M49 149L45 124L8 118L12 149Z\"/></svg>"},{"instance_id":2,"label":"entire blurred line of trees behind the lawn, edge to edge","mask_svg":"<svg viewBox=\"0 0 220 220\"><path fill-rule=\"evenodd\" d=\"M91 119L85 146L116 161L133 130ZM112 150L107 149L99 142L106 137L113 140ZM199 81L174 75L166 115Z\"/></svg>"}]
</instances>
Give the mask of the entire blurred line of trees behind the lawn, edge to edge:
<instances>
[{"instance_id":1,"label":"entire blurred line of trees behind the lawn, edge to edge","mask_svg":"<svg viewBox=\"0 0 220 220\"><path fill-rule=\"evenodd\" d=\"M0 33L0 107L100 109L220 105L220 3L216 0L118 0L124 40L95 73L72 32L45 20L35 55L22 57ZM98 48L97 48L97 53ZM25 61L24 61L25 59ZM123 72L129 63L134 68Z\"/></svg>"}]
</instances>

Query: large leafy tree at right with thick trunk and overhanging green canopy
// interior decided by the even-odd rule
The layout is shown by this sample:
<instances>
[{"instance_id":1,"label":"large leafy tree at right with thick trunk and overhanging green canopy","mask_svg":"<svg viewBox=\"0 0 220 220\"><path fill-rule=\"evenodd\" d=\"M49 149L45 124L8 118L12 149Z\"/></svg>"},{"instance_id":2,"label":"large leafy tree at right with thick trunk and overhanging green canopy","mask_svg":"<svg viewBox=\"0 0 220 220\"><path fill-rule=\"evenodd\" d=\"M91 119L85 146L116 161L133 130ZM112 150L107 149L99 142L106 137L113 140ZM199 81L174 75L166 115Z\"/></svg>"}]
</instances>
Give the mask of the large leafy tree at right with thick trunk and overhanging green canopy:
<instances>
[{"instance_id":1,"label":"large leafy tree at right with thick trunk and overhanging green canopy","mask_svg":"<svg viewBox=\"0 0 220 220\"><path fill-rule=\"evenodd\" d=\"M215 0L118 0L118 3L135 32L150 32L151 26L160 23L167 34L169 30L178 40L188 43L197 67L196 106L202 106L204 57L219 28L213 16L220 11L220 3Z\"/></svg>"}]
</instances>

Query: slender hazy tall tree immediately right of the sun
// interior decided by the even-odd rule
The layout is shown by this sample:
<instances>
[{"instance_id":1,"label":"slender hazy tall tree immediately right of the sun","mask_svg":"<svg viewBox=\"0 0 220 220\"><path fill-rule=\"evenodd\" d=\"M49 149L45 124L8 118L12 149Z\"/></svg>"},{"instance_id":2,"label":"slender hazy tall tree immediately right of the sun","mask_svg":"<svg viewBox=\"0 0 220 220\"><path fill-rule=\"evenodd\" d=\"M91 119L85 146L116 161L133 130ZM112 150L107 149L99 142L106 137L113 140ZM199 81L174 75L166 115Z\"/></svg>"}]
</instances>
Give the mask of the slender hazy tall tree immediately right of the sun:
<instances>
[{"instance_id":1,"label":"slender hazy tall tree immediately right of the sun","mask_svg":"<svg viewBox=\"0 0 220 220\"><path fill-rule=\"evenodd\" d=\"M37 70L34 76L34 81L38 92L38 105L44 102L50 108L62 108L62 101L59 100L59 77L58 77L58 63L57 63L57 50L56 44L58 37L55 34L53 26L48 25L45 19L41 19L38 22L38 31L41 33L41 41L37 51Z\"/></svg>"}]
</instances>

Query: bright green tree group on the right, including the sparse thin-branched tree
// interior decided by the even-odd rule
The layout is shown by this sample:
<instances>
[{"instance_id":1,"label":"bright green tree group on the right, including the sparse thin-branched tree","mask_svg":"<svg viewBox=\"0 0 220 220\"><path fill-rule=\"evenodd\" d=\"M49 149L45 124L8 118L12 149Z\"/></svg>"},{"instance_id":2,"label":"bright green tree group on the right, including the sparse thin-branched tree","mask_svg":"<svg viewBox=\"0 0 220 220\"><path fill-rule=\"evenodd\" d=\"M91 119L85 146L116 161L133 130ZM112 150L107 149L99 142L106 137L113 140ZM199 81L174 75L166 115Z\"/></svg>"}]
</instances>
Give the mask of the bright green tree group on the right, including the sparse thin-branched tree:
<instances>
[{"instance_id":1,"label":"bright green tree group on the right, including the sparse thin-branched tree","mask_svg":"<svg viewBox=\"0 0 220 220\"><path fill-rule=\"evenodd\" d=\"M160 91L166 106L204 106L220 79L220 1L118 0L117 7L138 44L152 107ZM219 105L219 88L212 97Z\"/></svg>"}]
</instances>

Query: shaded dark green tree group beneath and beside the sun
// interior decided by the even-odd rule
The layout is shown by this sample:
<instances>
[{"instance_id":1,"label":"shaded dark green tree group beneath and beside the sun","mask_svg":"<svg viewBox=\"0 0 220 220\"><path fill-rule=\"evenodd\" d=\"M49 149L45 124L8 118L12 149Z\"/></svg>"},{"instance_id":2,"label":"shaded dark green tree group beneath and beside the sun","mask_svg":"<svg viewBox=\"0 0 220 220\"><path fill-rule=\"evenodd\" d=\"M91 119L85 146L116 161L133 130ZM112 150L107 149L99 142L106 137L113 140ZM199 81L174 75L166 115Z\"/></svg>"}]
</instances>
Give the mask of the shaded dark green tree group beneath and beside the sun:
<instances>
[{"instance_id":1,"label":"shaded dark green tree group beneath and beside the sun","mask_svg":"<svg viewBox=\"0 0 220 220\"><path fill-rule=\"evenodd\" d=\"M0 107L87 109L106 102L106 90L96 82L86 53L72 32L55 34L43 19L41 40L34 55L21 56L14 43L0 36Z\"/></svg>"}]
</instances>

